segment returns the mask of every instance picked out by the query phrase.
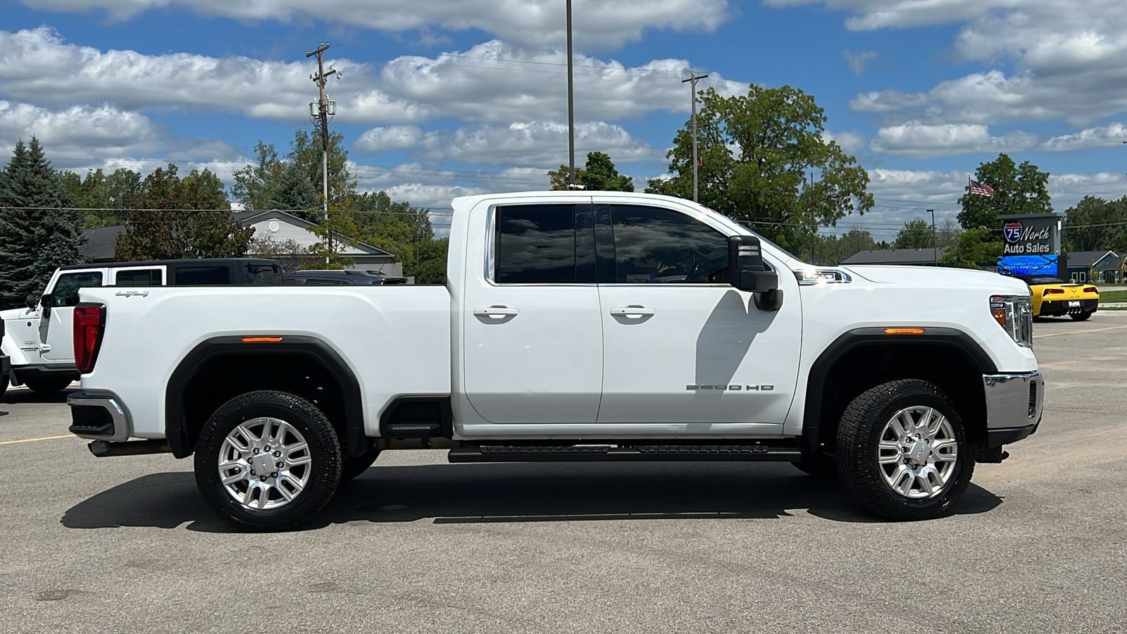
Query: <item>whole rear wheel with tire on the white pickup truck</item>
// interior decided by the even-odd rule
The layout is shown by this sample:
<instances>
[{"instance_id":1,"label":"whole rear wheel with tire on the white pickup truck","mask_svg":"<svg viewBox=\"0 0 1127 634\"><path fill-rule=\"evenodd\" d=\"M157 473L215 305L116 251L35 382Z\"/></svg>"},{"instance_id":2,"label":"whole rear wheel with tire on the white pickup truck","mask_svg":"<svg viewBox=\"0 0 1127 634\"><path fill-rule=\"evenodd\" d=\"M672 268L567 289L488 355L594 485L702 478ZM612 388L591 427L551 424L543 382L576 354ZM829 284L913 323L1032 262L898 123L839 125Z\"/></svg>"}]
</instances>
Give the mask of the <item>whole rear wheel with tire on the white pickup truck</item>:
<instances>
[{"instance_id":1,"label":"whole rear wheel with tire on the white pickup truck","mask_svg":"<svg viewBox=\"0 0 1127 634\"><path fill-rule=\"evenodd\" d=\"M196 485L243 530L291 530L313 518L340 483L340 448L312 403L251 391L220 407L199 433Z\"/></svg>"}]
</instances>

